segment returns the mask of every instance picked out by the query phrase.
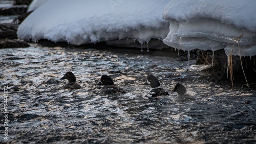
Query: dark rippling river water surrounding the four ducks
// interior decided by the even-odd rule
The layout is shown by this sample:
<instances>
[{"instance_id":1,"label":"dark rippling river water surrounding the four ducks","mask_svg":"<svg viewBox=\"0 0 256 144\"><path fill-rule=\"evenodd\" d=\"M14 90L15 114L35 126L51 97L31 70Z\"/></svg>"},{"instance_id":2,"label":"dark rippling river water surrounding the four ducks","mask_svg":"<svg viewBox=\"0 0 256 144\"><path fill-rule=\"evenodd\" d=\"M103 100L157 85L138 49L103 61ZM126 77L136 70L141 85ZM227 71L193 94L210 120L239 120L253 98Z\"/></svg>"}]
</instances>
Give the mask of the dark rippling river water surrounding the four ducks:
<instances>
[{"instance_id":1,"label":"dark rippling river water surrounding the four ducks","mask_svg":"<svg viewBox=\"0 0 256 144\"><path fill-rule=\"evenodd\" d=\"M0 142L255 143L256 92L187 71L186 56L177 53L1 49ZM67 83L59 80L67 71L73 71L82 89L59 89ZM95 85L103 74L127 93L98 93L101 87ZM169 93L177 82L183 83L196 101L177 103L175 94L144 97L150 90L142 85L148 74L159 78Z\"/></svg>"}]
</instances>

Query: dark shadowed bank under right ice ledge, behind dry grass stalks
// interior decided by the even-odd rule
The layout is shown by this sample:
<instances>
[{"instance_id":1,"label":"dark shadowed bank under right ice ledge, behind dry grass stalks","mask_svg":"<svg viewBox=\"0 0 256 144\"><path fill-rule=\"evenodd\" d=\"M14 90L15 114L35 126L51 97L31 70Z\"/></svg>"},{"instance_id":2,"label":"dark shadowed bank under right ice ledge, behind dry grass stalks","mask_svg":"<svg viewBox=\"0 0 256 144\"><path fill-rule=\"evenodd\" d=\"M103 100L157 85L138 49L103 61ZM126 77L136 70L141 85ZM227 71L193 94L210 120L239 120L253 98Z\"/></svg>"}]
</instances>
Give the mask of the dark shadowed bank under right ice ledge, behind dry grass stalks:
<instances>
[{"instance_id":1,"label":"dark shadowed bank under right ice ledge, behind dry grass stalks","mask_svg":"<svg viewBox=\"0 0 256 144\"><path fill-rule=\"evenodd\" d=\"M196 50L197 62L196 64L211 64L212 51ZM236 80L245 80L243 70L248 82L255 82L255 64L256 56L242 57L242 64L239 56L232 56L232 75ZM206 71L212 74L211 80L225 80L230 79L230 71L228 69L228 58L224 50L218 50L214 52L214 66ZM242 68L243 66L243 68ZM228 75L227 75L228 71ZM228 76L228 77L227 77Z\"/></svg>"}]
</instances>

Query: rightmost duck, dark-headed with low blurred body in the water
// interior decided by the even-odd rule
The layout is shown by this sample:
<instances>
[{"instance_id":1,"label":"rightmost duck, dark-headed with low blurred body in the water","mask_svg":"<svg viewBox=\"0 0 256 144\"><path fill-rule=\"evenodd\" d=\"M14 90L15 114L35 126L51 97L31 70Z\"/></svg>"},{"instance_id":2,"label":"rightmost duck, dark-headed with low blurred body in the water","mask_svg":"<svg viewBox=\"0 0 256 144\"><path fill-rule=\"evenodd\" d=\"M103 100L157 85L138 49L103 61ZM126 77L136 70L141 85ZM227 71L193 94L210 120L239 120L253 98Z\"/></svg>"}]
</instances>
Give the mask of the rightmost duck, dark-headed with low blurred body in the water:
<instances>
[{"instance_id":1,"label":"rightmost duck, dark-headed with low blurred body in the water","mask_svg":"<svg viewBox=\"0 0 256 144\"><path fill-rule=\"evenodd\" d=\"M196 99L189 94L185 94L187 92L185 86L183 84L177 83L172 90L172 92L177 92L178 97L176 98L177 102L189 102L195 101Z\"/></svg>"}]
</instances>

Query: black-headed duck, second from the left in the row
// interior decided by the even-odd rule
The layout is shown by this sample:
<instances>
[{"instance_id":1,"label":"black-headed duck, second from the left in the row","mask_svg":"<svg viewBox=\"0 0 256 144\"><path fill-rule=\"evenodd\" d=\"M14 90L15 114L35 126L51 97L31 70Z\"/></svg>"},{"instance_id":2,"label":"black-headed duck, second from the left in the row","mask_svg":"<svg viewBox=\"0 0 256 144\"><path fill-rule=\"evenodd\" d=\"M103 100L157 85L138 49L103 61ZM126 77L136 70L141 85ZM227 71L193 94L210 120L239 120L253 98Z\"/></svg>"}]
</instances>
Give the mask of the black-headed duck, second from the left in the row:
<instances>
[{"instance_id":1,"label":"black-headed duck, second from the left in the row","mask_svg":"<svg viewBox=\"0 0 256 144\"><path fill-rule=\"evenodd\" d=\"M114 81L108 75L102 75L100 81L96 85L104 85L99 93L126 93L121 87L114 84Z\"/></svg>"}]
</instances>

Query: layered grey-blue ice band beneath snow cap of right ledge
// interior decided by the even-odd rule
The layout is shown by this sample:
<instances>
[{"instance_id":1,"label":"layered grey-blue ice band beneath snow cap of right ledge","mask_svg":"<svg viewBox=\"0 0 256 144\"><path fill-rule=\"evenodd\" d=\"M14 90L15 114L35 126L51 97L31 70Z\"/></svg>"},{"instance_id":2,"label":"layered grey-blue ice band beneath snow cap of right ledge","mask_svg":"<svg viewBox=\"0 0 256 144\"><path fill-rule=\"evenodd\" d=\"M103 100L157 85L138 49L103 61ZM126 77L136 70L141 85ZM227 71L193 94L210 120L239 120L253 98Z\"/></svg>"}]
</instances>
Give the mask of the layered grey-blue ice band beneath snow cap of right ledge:
<instances>
[{"instance_id":1,"label":"layered grey-blue ice band beneath snow cap of right ledge","mask_svg":"<svg viewBox=\"0 0 256 144\"><path fill-rule=\"evenodd\" d=\"M205 37L220 42L230 42L244 34L240 44L252 42L253 33L246 30L233 29L214 19L196 19L194 21L179 23L179 29L174 35L177 37ZM255 38L255 37L254 37Z\"/></svg>"}]
</instances>

